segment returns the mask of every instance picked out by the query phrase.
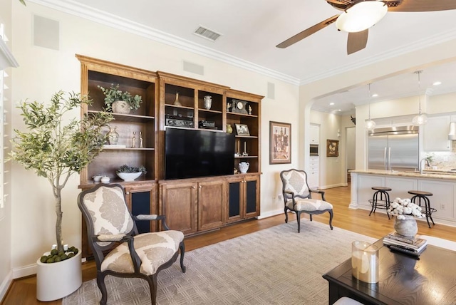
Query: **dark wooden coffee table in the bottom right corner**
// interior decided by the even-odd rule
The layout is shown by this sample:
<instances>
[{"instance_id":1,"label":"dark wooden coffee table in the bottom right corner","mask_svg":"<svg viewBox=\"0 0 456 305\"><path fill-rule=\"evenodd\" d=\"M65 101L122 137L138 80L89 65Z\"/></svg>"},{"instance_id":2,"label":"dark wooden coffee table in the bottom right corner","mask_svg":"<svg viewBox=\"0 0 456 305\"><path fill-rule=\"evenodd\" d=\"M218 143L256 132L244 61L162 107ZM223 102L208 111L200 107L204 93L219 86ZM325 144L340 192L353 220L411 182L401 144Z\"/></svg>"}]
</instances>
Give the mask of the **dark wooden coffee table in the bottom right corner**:
<instances>
[{"instance_id":1,"label":"dark wooden coffee table in the bottom right corner","mask_svg":"<svg viewBox=\"0 0 456 305\"><path fill-rule=\"evenodd\" d=\"M342 296L363 304L456 304L456 252L427 245L419 258L390 252L383 239L379 281L368 284L351 274L351 259L323 275L329 283L329 304Z\"/></svg>"}]
</instances>

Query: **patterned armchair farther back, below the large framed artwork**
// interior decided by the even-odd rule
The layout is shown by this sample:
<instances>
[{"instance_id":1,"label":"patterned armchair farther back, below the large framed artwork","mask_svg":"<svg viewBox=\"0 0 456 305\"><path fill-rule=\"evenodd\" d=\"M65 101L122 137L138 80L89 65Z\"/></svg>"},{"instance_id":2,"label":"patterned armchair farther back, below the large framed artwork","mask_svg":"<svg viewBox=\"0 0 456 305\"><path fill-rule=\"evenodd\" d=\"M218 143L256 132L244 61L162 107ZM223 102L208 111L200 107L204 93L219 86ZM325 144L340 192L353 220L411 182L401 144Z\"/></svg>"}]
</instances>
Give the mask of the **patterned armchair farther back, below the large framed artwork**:
<instances>
[{"instance_id":1,"label":"patterned armchair farther back, below the large framed artwork","mask_svg":"<svg viewBox=\"0 0 456 305\"><path fill-rule=\"evenodd\" d=\"M325 192L311 190L304 170L284 170L280 172L282 196L284 197L285 222L288 223L288 211L296 213L298 232L301 232L301 213L312 215L329 213L329 227L333 229L333 205L325 201ZM312 193L321 195L321 200L312 199Z\"/></svg>"}]
</instances>

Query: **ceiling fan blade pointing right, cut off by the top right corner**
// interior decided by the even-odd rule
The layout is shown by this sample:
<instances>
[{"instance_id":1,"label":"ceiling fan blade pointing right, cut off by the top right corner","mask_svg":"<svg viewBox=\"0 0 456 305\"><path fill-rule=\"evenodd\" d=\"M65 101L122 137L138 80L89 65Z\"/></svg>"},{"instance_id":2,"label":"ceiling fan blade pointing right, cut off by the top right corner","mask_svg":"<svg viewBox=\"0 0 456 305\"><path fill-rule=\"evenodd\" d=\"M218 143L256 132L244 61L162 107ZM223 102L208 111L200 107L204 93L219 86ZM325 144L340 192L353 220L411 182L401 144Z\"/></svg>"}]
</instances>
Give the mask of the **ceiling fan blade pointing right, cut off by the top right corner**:
<instances>
[{"instance_id":1,"label":"ceiling fan blade pointing right, cut off by the top right corner","mask_svg":"<svg viewBox=\"0 0 456 305\"><path fill-rule=\"evenodd\" d=\"M388 11L447 11L456 9L455 0L386 1Z\"/></svg>"}]
</instances>

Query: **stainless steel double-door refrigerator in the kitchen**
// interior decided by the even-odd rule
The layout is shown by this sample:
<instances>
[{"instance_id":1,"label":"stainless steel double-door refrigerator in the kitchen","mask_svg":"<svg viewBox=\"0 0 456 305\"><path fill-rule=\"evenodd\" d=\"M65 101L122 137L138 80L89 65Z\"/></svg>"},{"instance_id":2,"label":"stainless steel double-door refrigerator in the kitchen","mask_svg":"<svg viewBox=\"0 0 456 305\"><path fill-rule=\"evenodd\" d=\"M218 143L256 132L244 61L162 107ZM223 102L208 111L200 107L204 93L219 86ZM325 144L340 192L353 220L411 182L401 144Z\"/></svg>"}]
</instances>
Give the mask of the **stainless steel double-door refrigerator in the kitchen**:
<instances>
[{"instance_id":1,"label":"stainless steel double-door refrigerator in the kitchen","mask_svg":"<svg viewBox=\"0 0 456 305\"><path fill-rule=\"evenodd\" d=\"M420 147L417 126L377 128L369 133L368 168L371 170L415 170Z\"/></svg>"}]
</instances>

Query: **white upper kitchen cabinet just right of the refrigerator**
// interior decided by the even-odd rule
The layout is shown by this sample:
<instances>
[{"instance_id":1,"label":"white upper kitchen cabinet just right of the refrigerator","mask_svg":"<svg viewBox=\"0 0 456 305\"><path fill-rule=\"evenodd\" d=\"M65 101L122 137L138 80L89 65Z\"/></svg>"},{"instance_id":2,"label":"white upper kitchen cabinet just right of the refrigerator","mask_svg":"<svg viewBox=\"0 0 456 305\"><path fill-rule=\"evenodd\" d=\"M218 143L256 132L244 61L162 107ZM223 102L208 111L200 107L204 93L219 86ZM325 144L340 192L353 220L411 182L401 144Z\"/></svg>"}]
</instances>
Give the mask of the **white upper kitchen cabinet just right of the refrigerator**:
<instances>
[{"instance_id":1,"label":"white upper kitchen cabinet just right of the refrigerator","mask_svg":"<svg viewBox=\"0 0 456 305\"><path fill-rule=\"evenodd\" d=\"M448 140L450 130L450 115L427 118L424 125L423 150L451 150L451 141Z\"/></svg>"}]
</instances>

